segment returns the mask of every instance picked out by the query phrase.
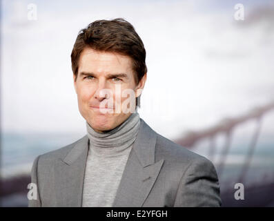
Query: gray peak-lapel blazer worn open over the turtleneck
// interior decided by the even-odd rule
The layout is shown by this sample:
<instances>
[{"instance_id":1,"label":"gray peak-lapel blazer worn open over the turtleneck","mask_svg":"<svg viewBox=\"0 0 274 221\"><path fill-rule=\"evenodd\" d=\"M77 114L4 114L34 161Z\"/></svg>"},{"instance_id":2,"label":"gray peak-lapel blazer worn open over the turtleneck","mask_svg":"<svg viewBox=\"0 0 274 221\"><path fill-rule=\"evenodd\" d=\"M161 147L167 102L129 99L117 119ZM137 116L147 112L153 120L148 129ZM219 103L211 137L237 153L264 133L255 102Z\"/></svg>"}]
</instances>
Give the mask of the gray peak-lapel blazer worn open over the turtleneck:
<instances>
[{"instance_id":1,"label":"gray peak-lapel blazer worn open over the turtleneck","mask_svg":"<svg viewBox=\"0 0 274 221\"><path fill-rule=\"evenodd\" d=\"M39 155L32 166L37 200L28 206L81 206L88 136ZM221 206L215 167L153 131L143 119L113 206Z\"/></svg>"}]
</instances>

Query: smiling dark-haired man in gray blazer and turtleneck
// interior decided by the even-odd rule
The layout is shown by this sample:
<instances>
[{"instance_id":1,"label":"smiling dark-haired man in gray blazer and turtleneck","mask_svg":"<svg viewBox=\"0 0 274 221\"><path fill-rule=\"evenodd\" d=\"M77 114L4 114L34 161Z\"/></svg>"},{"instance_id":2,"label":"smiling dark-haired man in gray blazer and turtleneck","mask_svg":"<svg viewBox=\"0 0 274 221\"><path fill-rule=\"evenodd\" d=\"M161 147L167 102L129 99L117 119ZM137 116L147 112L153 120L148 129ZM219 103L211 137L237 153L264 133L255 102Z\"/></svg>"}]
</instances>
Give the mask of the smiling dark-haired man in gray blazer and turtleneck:
<instances>
[{"instance_id":1,"label":"smiling dark-haired man in gray blazer and turtleneck","mask_svg":"<svg viewBox=\"0 0 274 221\"><path fill-rule=\"evenodd\" d=\"M71 59L87 135L35 159L29 206L221 205L213 164L139 117L146 50L130 23L90 23Z\"/></svg>"}]
</instances>

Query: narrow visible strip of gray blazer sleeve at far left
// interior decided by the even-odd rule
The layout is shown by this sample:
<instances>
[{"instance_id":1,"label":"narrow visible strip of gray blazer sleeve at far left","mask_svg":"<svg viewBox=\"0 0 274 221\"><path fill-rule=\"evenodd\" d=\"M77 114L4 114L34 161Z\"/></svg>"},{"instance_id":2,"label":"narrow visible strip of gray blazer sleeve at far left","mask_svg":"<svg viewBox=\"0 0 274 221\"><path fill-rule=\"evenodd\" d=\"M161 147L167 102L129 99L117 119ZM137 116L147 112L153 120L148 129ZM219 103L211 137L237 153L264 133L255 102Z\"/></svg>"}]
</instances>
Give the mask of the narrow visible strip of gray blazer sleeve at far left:
<instances>
[{"instance_id":1,"label":"narrow visible strip of gray blazer sleeve at far left","mask_svg":"<svg viewBox=\"0 0 274 221\"><path fill-rule=\"evenodd\" d=\"M35 161L33 162L32 165L32 170L31 170L31 182L32 184L36 184L37 186L37 199L28 199L28 207L41 207L41 200L40 200L40 194L39 194L39 184L38 184L38 162L39 162L39 157L35 158Z\"/></svg>"}]
</instances>

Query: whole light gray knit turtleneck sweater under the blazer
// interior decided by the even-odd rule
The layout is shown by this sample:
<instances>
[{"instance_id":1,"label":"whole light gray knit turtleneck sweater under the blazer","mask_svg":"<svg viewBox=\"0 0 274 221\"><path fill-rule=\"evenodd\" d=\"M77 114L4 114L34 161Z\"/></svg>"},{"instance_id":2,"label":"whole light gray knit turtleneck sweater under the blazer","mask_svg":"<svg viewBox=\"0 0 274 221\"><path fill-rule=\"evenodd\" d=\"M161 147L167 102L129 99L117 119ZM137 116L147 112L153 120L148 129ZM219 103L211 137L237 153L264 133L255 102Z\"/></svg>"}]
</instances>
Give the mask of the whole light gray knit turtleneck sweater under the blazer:
<instances>
[{"instance_id":1,"label":"whole light gray knit turtleneck sweater under the blazer","mask_svg":"<svg viewBox=\"0 0 274 221\"><path fill-rule=\"evenodd\" d=\"M84 176L83 207L112 206L128 155L139 131L138 113L104 133L86 122L90 145Z\"/></svg>"}]
</instances>

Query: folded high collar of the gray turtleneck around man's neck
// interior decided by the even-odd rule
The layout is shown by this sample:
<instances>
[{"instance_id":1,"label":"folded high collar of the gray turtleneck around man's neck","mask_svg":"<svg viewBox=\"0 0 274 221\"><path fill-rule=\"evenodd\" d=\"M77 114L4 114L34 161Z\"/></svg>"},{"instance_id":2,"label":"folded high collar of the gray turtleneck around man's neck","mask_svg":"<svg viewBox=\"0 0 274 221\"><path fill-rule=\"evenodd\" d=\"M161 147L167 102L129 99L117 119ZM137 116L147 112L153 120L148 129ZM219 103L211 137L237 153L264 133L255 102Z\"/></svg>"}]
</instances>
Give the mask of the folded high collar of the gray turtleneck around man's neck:
<instances>
[{"instance_id":1,"label":"folded high collar of the gray turtleneck around man's neck","mask_svg":"<svg viewBox=\"0 0 274 221\"><path fill-rule=\"evenodd\" d=\"M132 113L122 124L99 133L86 122L90 149L97 155L119 155L135 142L139 131L139 113Z\"/></svg>"}]
</instances>

